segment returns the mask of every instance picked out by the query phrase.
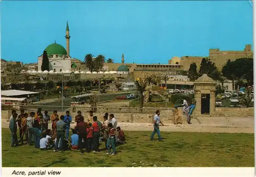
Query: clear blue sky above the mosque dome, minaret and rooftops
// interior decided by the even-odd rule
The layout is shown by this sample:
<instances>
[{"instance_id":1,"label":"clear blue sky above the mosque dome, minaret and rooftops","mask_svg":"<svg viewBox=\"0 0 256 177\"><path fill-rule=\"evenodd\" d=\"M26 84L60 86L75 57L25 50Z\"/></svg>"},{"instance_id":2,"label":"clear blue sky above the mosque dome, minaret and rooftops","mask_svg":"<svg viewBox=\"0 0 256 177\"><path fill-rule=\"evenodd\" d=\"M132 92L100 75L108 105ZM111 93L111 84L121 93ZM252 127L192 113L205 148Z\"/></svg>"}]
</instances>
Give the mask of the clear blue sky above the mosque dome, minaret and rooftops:
<instances>
[{"instance_id":1,"label":"clear blue sky above the mosque dome, minaret and rooftops","mask_svg":"<svg viewBox=\"0 0 256 177\"><path fill-rule=\"evenodd\" d=\"M167 63L173 56L208 56L210 48L252 44L249 1L3 1L1 58L37 62L54 43L70 54L126 63Z\"/></svg>"}]
</instances>

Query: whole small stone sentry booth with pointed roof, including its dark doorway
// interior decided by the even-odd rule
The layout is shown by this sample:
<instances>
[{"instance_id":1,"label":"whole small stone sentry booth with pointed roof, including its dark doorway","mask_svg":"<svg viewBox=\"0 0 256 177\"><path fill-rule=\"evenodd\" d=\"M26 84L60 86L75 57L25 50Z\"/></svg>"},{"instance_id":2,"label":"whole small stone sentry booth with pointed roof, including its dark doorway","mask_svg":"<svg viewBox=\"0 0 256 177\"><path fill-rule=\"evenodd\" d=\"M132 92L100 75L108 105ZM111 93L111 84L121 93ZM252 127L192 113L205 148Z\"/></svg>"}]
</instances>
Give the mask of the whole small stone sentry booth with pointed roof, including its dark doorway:
<instances>
[{"instance_id":1,"label":"whole small stone sentry booth with pointed roof, including its dark doorway","mask_svg":"<svg viewBox=\"0 0 256 177\"><path fill-rule=\"evenodd\" d=\"M195 115L212 115L215 112L215 90L217 82L203 74L194 82Z\"/></svg>"}]
</instances>

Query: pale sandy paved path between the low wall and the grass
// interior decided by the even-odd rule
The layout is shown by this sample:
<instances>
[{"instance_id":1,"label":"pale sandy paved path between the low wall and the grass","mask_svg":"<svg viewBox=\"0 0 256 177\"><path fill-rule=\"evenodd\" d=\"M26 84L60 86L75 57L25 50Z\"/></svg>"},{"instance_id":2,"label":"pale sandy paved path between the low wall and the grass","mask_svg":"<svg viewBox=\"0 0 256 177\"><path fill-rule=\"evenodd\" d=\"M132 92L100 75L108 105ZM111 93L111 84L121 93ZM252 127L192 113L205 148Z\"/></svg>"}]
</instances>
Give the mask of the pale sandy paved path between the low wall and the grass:
<instances>
[{"instance_id":1,"label":"pale sandy paved path between the low wall and the grass","mask_svg":"<svg viewBox=\"0 0 256 177\"><path fill-rule=\"evenodd\" d=\"M165 124L161 126L161 131L190 131L190 132L229 132L229 133L254 133L254 119L253 117L211 117L198 118L191 120L191 125L174 125ZM71 124L74 127L76 124ZM152 131L153 125L151 123L126 123L118 122L123 130L129 131ZM9 122L2 120L2 128L8 128ZM49 124L51 127L51 124Z\"/></svg>"}]
</instances>

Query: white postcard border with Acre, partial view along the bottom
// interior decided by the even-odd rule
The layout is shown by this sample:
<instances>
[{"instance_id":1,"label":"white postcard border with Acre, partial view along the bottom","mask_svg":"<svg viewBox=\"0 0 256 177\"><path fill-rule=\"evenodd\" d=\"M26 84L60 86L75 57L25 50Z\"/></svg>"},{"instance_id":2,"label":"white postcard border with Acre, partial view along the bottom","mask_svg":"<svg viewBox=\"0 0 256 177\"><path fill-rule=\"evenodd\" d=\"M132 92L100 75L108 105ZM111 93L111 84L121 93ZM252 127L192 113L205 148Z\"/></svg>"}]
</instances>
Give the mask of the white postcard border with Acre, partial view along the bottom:
<instances>
[{"instance_id":1,"label":"white postcard border with Acre, partial view along the bottom","mask_svg":"<svg viewBox=\"0 0 256 177\"><path fill-rule=\"evenodd\" d=\"M0 0L1 1L1 0ZM253 29L256 28L255 24L255 17L256 17L256 7L253 6ZM239 12L238 12L239 13ZM1 14L0 14L1 15ZM2 15L1 15L2 16ZM1 21L1 20L0 20ZM1 24L0 24L1 27ZM253 44L254 39L256 37L256 34L253 33ZM1 41L1 31L0 31L0 41ZM253 51L256 51L256 46L253 45ZM255 58L255 53L253 54L253 58ZM1 58L1 43L0 43L0 58ZM253 62L253 69L256 68L256 62ZM256 71L253 70L253 76L254 76L254 83L256 83ZM0 76L1 77L1 76ZM1 81L0 81L1 82ZM254 89L254 97L256 96L255 89ZM1 95L0 95L1 98ZM254 107L256 106L256 103L254 102ZM1 107L0 107L1 109ZM256 114L256 110L254 109L254 115ZM2 116L2 113L0 112L0 117ZM254 132L256 129L256 121L254 118ZM0 142L2 144L2 121L0 121ZM256 137L254 134L254 147L256 147ZM0 156L2 157L2 146L0 146ZM254 150L254 159L256 159L256 153ZM0 159L0 165L2 167L2 158ZM254 161L254 165L256 166L256 161ZM97 172L97 174L102 174L103 177L114 177L114 176L256 176L256 168L249 167L249 168L218 168L218 167L212 167L212 168L129 168L129 167L120 167L120 168L97 168L94 170L94 168L75 168L74 170L70 170L70 168L1 168L0 173L1 176L14 176L11 175L13 170L16 171L25 171L28 176L29 171L61 171L60 175L57 176L77 176L78 173L81 173L81 176L95 176L95 171L100 171L100 173ZM111 172L110 172L111 171ZM20 175L21 176L21 175ZM32 175L31 175L32 176ZM33 176L42 176L42 175L33 175ZM49 176L46 174L45 176ZM80 176L80 175L79 175ZM97 176L97 175L96 175Z\"/></svg>"}]
</instances>

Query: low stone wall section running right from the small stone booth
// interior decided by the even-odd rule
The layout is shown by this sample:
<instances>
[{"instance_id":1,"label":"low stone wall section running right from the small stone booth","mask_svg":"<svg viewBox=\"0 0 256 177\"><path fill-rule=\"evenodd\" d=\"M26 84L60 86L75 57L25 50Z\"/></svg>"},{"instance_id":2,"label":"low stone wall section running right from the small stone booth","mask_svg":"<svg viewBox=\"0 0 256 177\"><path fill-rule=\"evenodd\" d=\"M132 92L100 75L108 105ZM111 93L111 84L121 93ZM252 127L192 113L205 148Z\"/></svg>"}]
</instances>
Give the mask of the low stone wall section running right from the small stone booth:
<instances>
[{"instance_id":1,"label":"low stone wall section running right from the small stone booth","mask_svg":"<svg viewBox=\"0 0 256 177\"><path fill-rule=\"evenodd\" d=\"M244 107L216 107L212 117L248 117L254 116L254 108Z\"/></svg>"}]
</instances>

